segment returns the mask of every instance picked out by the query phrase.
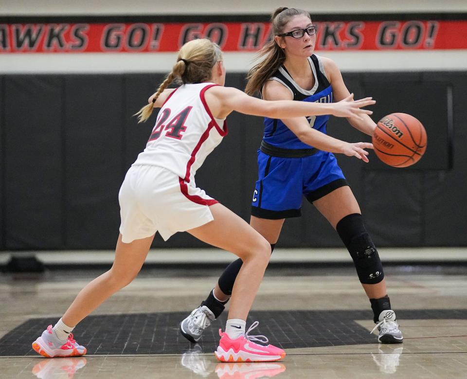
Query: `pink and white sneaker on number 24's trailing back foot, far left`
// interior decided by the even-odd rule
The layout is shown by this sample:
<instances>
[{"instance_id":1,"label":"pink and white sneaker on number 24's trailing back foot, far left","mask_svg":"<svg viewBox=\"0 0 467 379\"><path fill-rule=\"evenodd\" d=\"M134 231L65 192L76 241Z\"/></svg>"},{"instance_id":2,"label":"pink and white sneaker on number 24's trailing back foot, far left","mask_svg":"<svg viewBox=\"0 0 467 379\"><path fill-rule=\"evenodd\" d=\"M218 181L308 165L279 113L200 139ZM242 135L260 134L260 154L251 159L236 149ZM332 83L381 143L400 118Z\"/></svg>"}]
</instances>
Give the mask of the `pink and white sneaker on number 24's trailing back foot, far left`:
<instances>
[{"instance_id":1,"label":"pink and white sneaker on number 24's trailing back foot, far left","mask_svg":"<svg viewBox=\"0 0 467 379\"><path fill-rule=\"evenodd\" d=\"M63 343L55 335L52 325L49 325L42 335L33 342L33 349L46 358L54 357L81 357L86 354L86 347L79 345L71 333L68 340Z\"/></svg>"}]
</instances>

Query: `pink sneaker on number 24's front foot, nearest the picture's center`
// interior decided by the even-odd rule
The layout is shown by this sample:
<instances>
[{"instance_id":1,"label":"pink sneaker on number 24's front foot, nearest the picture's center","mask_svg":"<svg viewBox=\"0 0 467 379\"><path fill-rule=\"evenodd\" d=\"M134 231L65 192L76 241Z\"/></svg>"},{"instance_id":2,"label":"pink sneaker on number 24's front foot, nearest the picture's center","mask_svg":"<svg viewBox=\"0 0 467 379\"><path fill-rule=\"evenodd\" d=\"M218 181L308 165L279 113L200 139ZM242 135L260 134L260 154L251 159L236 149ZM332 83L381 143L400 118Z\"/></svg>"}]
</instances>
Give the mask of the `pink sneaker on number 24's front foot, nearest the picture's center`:
<instances>
[{"instance_id":1,"label":"pink sneaker on number 24's front foot, nearest the picture's center","mask_svg":"<svg viewBox=\"0 0 467 379\"><path fill-rule=\"evenodd\" d=\"M279 361L286 356L286 352L279 347L271 344L259 345L253 341L268 343L269 340L265 336L250 336L252 329L258 326L255 321L245 333L245 336L240 336L232 340L227 333L223 333L219 329L219 346L214 352L216 358L221 362L272 362Z\"/></svg>"}]
</instances>

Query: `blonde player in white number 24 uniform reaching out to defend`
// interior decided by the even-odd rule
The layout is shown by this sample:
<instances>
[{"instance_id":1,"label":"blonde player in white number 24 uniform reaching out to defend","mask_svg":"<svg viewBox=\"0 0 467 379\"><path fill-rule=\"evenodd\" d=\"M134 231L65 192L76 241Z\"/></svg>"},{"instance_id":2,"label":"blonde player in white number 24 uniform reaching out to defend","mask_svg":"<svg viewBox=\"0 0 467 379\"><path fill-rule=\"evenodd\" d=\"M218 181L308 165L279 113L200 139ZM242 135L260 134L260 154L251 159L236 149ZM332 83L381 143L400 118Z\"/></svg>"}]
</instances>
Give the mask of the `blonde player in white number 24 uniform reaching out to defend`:
<instances>
[{"instance_id":1,"label":"blonde player in white number 24 uniform reaching out to defend","mask_svg":"<svg viewBox=\"0 0 467 379\"><path fill-rule=\"evenodd\" d=\"M183 84L175 90L166 89L176 78ZM268 343L264 336L249 335L257 322L245 332L245 320L271 247L247 222L199 189L195 173L227 134L225 118L233 110L275 118L322 114L358 117L371 114L360 107L375 101L353 101L352 96L334 104L264 101L223 87L224 83L222 53L216 44L198 39L182 46L172 72L137 113L142 122L153 108L161 107L146 148L126 173L120 189L121 225L113 266L82 289L57 324L49 325L36 339L36 352L50 358L86 354L86 348L72 337L75 325L136 277L157 231L164 240L186 231L243 261L225 332L219 330L217 359L277 361L285 357L278 347L253 342ZM341 143L344 154L368 161L364 148L372 148L372 144Z\"/></svg>"}]
</instances>

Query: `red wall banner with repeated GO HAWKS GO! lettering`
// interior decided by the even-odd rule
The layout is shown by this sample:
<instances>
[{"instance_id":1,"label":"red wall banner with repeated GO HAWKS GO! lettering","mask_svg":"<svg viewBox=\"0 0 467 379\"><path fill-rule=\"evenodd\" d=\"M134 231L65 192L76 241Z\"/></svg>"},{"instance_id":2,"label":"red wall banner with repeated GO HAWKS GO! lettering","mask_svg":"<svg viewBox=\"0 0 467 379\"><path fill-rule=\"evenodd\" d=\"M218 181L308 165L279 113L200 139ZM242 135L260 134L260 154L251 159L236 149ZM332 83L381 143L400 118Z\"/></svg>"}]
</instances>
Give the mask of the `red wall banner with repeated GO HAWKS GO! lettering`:
<instances>
[{"instance_id":1,"label":"red wall banner with repeated GO HAWKS GO! lettering","mask_svg":"<svg viewBox=\"0 0 467 379\"><path fill-rule=\"evenodd\" d=\"M316 50L467 49L467 20L316 25ZM203 37L226 52L251 52L269 36L266 22L0 24L0 54L175 52L183 43Z\"/></svg>"}]
</instances>

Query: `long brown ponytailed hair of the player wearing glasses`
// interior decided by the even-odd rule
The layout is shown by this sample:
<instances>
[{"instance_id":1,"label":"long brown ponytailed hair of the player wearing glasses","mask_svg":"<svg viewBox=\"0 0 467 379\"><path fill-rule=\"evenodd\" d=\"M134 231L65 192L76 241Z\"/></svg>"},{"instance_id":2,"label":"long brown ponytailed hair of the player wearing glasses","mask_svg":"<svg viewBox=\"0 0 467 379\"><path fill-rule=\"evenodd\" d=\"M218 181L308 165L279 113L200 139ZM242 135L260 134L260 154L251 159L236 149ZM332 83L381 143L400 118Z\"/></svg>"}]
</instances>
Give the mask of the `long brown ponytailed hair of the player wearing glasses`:
<instances>
[{"instance_id":1,"label":"long brown ponytailed hair of the player wearing glasses","mask_svg":"<svg viewBox=\"0 0 467 379\"><path fill-rule=\"evenodd\" d=\"M305 15L309 13L296 8L279 7L271 15L272 39L259 51L256 60L264 58L251 68L247 75L247 86L245 92L253 95L261 91L266 81L282 66L286 60L284 50L276 43L274 36L284 33L284 27L293 16ZM310 18L311 20L311 18Z\"/></svg>"}]
</instances>

